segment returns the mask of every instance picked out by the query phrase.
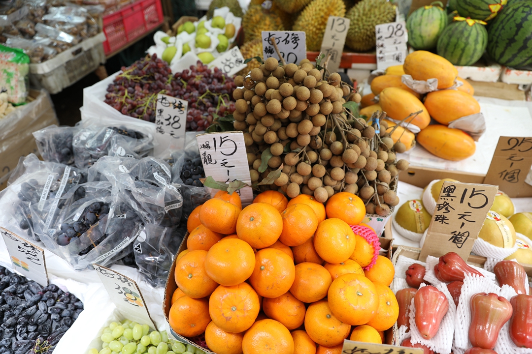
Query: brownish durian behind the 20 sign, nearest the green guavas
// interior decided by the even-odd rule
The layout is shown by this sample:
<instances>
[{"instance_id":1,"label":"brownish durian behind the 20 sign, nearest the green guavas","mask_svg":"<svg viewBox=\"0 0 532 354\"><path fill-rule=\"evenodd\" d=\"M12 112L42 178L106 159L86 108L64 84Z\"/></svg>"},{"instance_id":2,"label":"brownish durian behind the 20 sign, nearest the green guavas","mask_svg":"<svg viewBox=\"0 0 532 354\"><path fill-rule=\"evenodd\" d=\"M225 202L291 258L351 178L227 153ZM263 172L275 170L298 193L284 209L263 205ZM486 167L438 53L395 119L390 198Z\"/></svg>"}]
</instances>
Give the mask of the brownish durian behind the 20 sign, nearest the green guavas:
<instances>
[{"instance_id":1,"label":"brownish durian behind the 20 sign, nearest the green guavas","mask_svg":"<svg viewBox=\"0 0 532 354\"><path fill-rule=\"evenodd\" d=\"M278 14L264 10L261 5L250 5L242 19L244 41L262 38L262 31L284 31L285 27Z\"/></svg>"}]
</instances>

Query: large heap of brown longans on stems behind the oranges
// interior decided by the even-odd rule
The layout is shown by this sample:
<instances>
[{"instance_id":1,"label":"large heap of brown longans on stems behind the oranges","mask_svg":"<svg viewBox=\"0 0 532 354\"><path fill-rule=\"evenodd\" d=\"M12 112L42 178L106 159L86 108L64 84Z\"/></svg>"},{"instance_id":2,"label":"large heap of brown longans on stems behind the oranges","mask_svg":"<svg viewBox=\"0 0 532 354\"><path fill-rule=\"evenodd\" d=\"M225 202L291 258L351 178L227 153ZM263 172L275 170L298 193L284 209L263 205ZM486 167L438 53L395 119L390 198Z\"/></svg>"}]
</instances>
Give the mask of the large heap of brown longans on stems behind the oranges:
<instances>
[{"instance_id":1,"label":"large heap of brown longans on stems behind the oranges","mask_svg":"<svg viewBox=\"0 0 532 354\"><path fill-rule=\"evenodd\" d=\"M392 141L388 147L375 127L346 111L346 100L359 103L361 97L338 73L322 79L323 70L308 59L280 66L275 58L247 77L235 77L243 88L233 93L234 127L244 131L252 183L282 165L273 184L262 189L277 189L290 198L309 194L320 202L340 191L364 192L370 211L380 215L386 211L381 204L398 203L392 190L398 174L393 141L387 138Z\"/></svg>"}]
</instances>

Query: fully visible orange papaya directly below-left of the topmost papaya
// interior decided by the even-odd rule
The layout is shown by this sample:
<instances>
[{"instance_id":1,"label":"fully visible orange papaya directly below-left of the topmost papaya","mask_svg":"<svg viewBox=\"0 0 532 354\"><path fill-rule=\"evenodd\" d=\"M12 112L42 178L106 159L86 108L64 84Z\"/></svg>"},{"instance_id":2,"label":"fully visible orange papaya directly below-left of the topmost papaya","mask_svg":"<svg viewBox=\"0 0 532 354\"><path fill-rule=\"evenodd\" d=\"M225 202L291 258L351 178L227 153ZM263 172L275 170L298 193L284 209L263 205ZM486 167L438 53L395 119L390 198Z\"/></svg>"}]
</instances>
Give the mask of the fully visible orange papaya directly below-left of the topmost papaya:
<instances>
[{"instance_id":1,"label":"fully visible orange papaya directly below-left of the topmost papaya","mask_svg":"<svg viewBox=\"0 0 532 354\"><path fill-rule=\"evenodd\" d=\"M423 103L412 93L397 87L388 87L379 95L379 104L388 117L403 120L410 114L421 111L415 117L408 118L405 122L417 125L421 129L430 123L430 115Z\"/></svg>"}]
</instances>

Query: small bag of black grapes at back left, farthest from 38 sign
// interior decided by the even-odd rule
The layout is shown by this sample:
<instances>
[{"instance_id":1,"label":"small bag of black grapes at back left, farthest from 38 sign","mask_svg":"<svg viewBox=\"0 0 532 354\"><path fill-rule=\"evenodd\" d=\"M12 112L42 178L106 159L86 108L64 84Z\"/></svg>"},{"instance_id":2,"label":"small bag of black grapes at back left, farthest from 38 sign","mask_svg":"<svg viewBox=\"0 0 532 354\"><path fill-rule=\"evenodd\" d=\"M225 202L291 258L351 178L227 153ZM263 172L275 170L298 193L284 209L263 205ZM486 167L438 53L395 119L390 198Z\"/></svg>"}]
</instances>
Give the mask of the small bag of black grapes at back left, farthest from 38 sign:
<instances>
[{"instance_id":1,"label":"small bag of black grapes at back left, farthest from 38 sign","mask_svg":"<svg viewBox=\"0 0 532 354\"><path fill-rule=\"evenodd\" d=\"M72 137L80 130L80 127L47 126L33 133L43 160L59 162L65 165L74 163L72 151Z\"/></svg>"}]
</instances>

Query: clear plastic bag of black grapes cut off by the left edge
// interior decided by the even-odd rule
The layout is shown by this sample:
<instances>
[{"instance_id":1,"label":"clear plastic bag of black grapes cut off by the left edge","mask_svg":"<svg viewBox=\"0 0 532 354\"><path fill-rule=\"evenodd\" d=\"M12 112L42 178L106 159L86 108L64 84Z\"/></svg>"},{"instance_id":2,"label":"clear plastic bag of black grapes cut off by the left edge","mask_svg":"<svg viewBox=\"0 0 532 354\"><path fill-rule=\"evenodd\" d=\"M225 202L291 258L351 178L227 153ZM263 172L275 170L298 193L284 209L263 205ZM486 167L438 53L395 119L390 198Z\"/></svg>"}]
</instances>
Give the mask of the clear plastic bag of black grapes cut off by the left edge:
<instances>
[{"instance_id":1,"label":"clear plastic bag of black grapes cut off by the left edge","mask_svg":"<svg viewBox=\"0 0 532 354\"><path fill-rule=\"evenodd\" d=\"M0 192L0 226L21 237L39 241L30 206L42 210L48 202L54 209L63 208L64 203L56 197L65 195L85 179L81 170L62 163L40 161L35 154L20 158L7 188Z\"/></svg>"}]
</instances>

